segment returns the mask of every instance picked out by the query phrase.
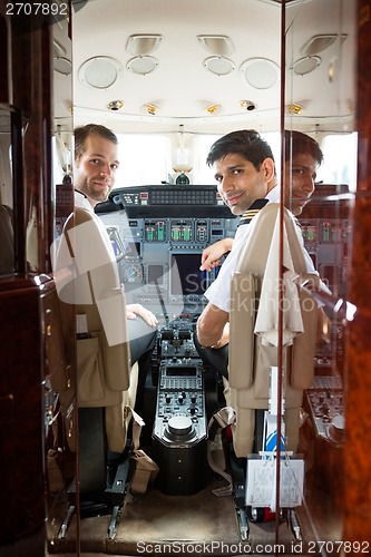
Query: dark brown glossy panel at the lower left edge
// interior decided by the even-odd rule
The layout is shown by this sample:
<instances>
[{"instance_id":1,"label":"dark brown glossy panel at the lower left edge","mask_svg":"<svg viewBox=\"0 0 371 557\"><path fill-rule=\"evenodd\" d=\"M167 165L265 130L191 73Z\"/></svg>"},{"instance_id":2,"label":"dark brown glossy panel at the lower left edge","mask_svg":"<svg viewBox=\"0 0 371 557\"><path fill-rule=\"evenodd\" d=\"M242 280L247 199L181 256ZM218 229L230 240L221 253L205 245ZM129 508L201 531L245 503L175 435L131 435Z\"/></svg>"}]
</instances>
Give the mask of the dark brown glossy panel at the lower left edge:
<instances>
[{"instance_id":1,"label":"dark brown glossy panel at the lower left edge","mask_svg":"<svg viewBox=\"0 0 371 557\"><path fill-rule=\"evenodd\" d=\"M30 556L42 555L45 544L39 297L31 281L0 284L0 543L30 537Z\"/></svg>"}]
</instances>

